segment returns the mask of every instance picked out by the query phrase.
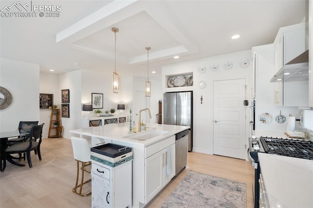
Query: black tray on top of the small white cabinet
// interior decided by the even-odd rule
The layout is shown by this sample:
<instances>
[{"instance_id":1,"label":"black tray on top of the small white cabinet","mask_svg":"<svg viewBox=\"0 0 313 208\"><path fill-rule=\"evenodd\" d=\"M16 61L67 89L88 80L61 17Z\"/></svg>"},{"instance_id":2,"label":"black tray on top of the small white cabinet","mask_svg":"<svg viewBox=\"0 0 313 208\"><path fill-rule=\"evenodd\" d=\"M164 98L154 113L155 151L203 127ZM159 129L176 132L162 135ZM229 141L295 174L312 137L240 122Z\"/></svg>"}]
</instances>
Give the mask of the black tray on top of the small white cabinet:
<instances>
[{"instance_id":1,"label":"black tray on top of the small white cabinet","mask_svg":"<svg viewBox=\"0 0 313 208\"><path fill-rule=\"evenodd\" d=\"M119 149L121 150L119 151ZM128 146L113 145L111 143L101 145L101 146L91 147L91 152L95 152L95 153L102 154L102 155L112 157L112 158L129 153L131 151L132 151L132 148Z\"/></svg>"}]
</instances>

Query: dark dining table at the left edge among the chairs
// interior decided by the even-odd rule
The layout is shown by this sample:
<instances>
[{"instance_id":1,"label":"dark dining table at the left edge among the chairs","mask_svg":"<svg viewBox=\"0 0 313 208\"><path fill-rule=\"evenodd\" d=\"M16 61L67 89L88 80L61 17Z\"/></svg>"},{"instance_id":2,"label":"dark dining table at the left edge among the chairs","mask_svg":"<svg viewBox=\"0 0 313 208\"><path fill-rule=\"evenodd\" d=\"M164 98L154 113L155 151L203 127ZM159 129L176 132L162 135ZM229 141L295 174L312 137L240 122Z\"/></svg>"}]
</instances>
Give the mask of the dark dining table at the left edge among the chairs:
<instances>
[{"instance_id":1,"label":"dark dining table at the left edge among the chairs","mask_svg":"<svg viewBox=\"0 0 313 208\"><path fill-rule=\"evenodd\" d=\"M12 155L5 155L5 149L9 146L9 138L13 137L22 137L27 136L29 133L27 132L20 132L19 130L15 131L5 131L0 132L0 171L3 172L6 166L6 161L12 163L16 166L25 166L23 164L15 162L13 159L16 159Z\"/></svg>"}]
</instances>

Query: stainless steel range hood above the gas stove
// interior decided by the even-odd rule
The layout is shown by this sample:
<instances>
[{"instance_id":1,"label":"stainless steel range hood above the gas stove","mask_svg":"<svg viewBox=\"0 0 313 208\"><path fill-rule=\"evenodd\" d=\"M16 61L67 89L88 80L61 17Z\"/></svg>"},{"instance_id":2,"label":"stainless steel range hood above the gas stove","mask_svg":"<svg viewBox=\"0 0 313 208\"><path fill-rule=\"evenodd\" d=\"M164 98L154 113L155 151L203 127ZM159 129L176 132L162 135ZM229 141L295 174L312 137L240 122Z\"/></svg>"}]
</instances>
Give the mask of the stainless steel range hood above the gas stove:
<instances>
[{"instance_id":1,"label":"stainless steel range hood above the gas stove","mask_svg":"<svg viewBox=\"0 0 313 208\"><path fill-rule=\"evenodd\" d=\"M291 82L309 80L309 50L286 63L272 79L275 82Z\"/></svg>"}]
</instances>

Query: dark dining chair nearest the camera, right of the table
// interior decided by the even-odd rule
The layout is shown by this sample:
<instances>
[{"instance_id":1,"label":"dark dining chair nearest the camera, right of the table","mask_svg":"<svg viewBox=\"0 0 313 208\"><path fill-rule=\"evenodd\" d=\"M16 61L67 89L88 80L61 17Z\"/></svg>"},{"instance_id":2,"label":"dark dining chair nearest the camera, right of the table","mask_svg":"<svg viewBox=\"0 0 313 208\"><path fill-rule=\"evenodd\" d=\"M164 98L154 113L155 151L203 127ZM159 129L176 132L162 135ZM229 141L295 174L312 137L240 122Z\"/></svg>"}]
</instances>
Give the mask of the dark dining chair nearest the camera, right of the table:
<instances>
[{"instance_id":1,"label":"dark dining chair nearest the camera, right of the table","mask_svg":"<svg viewBox=\"0 0 313 208\"><path fill-rule=\"evenodd\" d=\"M39 160L41 160L41 153L40 153L40 144L42 142L42 134L43 134L43 126L35 125L31 128L30 133L26 138L24 138L25 142L19 142L17 144L9 146L5 150L5 154L21 154L26 152L27 163L29 167L32 167L30 152L33 150L37 151L37 155Z\"/></svg>"}]
</instances>

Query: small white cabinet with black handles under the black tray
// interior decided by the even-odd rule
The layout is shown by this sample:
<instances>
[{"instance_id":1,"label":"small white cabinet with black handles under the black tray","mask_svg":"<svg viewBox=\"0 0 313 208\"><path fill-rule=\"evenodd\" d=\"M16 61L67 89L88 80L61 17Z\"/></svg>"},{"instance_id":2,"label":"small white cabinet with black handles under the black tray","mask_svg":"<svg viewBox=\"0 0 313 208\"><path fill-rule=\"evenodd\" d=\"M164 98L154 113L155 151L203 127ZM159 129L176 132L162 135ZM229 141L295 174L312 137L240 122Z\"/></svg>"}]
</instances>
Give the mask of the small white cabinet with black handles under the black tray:
<instances>
[{"instance_id":1,"label":"small white cabinet with black handles under the black tray","mask_svg":"<svg viewBox=\"0 0 313 208\"><path fill-rule=\"evenodd\" d=\"M91 162L92 208L132 207L132 162L116 167Z\"/></svg>"}]
</instances>

